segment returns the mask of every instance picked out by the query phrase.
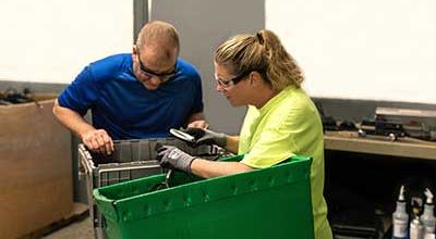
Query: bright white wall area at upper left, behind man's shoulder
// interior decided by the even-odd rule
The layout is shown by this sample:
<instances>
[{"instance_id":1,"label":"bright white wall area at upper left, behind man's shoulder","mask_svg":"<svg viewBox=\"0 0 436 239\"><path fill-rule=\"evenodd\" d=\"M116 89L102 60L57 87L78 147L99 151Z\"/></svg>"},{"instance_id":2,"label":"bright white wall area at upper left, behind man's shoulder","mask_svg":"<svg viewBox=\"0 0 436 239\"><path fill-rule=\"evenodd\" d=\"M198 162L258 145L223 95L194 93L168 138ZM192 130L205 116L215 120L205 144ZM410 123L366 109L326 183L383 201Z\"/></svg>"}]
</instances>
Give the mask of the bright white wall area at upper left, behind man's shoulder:
<instances>
[{"instance_id":1,"label":"bright white wall area at upper left, behind man's shoulder","mask_svg":"<svg viewBox=\"0 0 436 239\"><path fill-rule=\"evenodd\" d=\"M0 80L70 83L131 51L133 0L1 0L0 29Z\"/></svg>"}]
</instances>

